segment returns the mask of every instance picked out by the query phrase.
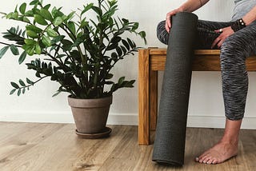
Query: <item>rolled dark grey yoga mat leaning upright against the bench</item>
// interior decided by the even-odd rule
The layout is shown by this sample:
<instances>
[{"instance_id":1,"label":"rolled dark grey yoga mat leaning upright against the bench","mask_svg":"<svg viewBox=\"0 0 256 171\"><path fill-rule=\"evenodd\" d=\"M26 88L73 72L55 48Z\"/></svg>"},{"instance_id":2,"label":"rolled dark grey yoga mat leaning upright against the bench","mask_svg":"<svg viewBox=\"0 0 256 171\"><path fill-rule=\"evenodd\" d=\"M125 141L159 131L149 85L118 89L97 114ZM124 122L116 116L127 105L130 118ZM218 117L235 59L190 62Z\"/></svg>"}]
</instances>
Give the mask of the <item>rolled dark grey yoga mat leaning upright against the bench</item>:
<instances>
[{"instance_id":1,"label":"rolled dark grey yoga mat leaning upright against the bench","mask_svg":"<svg viewBox=\"0 0 256 171\"><path fill-rule=\"evenodd\" d=\"M172 18L152 157L158 163L184 164L197 24L198 17L191 13L178 13Z\"/></svg>"}]
</instances>

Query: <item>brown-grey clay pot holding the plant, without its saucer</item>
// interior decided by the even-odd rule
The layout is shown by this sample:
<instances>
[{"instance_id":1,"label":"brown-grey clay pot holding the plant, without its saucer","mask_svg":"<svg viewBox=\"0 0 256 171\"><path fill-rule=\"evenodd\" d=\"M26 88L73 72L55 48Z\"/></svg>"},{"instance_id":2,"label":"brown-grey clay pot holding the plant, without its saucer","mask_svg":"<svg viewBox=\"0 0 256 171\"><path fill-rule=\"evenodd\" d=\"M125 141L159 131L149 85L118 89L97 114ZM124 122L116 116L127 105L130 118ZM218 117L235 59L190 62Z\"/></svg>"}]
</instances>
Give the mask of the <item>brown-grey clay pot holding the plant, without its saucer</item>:
<instances>
[{"instance_id":1,"label":"brown-grey clay pot holding the plant, without its saucer","mask_svg":"<svg viewBox=\"0 0 256 171\"><path fill-rule=\"evenodd\" d=\"M78 99L69 96L68 102L79 135L97 135L106 132L106 120L112 104L112 96L97 99Z\"/></svg>"}]
</instances>

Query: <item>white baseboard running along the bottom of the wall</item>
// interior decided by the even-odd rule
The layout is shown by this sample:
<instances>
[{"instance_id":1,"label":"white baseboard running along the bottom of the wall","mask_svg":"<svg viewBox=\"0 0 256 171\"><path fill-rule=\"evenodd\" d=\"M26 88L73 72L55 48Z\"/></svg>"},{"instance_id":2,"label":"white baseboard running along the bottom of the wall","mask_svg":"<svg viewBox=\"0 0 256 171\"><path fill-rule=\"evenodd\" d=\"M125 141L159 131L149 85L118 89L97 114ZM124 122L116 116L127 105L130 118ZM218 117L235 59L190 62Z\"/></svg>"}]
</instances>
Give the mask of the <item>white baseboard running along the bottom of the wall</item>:
<instances>
[{"instance_id":1,"label":"white baseboard running along the bottom of the wall","mask_svg":"<svg viewBox=\"0 0 256 171\"><path fill-rule=\"evenodd\" d=\"M46 123L74 123L70 112L62 113L8 113L0 114L0 121L46 122ZM242 129L256 129L256 117L244 117ZM110 113L109 125L138 125L137 113ZM223 116L189 115L188 127L224 128Z\"/></svg>"}]
</instances>

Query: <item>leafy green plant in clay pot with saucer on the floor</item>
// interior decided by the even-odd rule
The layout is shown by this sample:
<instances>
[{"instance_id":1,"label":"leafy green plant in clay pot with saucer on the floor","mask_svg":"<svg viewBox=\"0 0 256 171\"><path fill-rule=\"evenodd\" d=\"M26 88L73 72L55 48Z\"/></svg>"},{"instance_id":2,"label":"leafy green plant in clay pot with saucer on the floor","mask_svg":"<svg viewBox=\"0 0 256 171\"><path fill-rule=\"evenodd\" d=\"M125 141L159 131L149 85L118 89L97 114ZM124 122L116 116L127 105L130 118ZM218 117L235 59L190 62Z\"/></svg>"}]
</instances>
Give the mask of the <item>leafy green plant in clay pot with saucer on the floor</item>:
<instances>
[{"instance_id":1,"label":"leafy green plant in clay pot with saucer on the floor","mask_svg":"<svg viewBox=\"0 0 256 171\"><path fill-rule=\"evenodd\" d=\"M14 12L2 13L26 26L11 27L3 33L7 41L0 42L4 45L0 58L7 50L18 56L19 64L27 55L34 56L26 66L37 78L11 82L14 89L10 94L19 96L42 79L50 78L60 85L54 96L69 93L77 134L88 138L107 136L111 131L106 127L106 119L112 94L117 89L133 87L135 82L125 77L118 82L111 80L116 63L138 49L134 41L122 36L127 37L130 32L146 42L145 32L137 31L138 22L116 17L116 10L117 0L98 0L96 5L88 3L78 11L64 14L62 7L33 0L16 6Z\"/></svg>"}]
</instances>

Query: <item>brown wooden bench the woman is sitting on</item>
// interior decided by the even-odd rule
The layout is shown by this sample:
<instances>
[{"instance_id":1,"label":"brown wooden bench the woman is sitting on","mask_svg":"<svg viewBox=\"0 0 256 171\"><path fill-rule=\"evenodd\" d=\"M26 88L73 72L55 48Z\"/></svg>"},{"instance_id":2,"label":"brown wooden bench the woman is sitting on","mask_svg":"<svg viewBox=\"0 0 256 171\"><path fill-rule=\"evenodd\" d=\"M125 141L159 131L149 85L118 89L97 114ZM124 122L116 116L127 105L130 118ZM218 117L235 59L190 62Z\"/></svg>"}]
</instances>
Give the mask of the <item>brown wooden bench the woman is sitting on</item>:
<instances>
[{"instance_id":1,"label":"brown wooden bench the woman is sitting on","mask_svg":"<svg viewBox=\"0 0 256 171\"><path fill-rule=\"evenodd\" d=\"M220 71L220 50L195 50L192 70ZM158 71L165 69L166 49L138 51L138 144L150 145L150 130L158 117ZM246 59L246 69L256 71L256 56Z\"/></svg>"}]
</instances>

